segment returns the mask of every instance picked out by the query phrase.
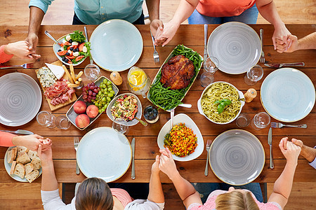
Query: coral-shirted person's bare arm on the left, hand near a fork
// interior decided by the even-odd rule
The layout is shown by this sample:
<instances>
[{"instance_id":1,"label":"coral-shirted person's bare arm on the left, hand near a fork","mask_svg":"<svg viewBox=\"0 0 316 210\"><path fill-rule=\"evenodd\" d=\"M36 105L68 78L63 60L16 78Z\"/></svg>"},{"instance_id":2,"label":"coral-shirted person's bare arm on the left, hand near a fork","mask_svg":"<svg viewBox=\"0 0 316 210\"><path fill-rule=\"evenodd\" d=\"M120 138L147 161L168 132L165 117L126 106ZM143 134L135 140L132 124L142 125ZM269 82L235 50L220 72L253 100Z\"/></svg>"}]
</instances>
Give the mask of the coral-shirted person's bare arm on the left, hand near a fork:
<instances>
[{"instance_id":1,"label":"coral-shirted person's bare arm on the left, hand near a fork","mask_svg":"<svg viewBox=\"0 0 316 210\"><path fill-rule=\"evenodd\" d=\"M154 35L156 45L166 45L171 41L180 24L193 13L199 0L181 0L173 18L164 25L163 30L158 30Z\"/></svg>"}]
</instances>

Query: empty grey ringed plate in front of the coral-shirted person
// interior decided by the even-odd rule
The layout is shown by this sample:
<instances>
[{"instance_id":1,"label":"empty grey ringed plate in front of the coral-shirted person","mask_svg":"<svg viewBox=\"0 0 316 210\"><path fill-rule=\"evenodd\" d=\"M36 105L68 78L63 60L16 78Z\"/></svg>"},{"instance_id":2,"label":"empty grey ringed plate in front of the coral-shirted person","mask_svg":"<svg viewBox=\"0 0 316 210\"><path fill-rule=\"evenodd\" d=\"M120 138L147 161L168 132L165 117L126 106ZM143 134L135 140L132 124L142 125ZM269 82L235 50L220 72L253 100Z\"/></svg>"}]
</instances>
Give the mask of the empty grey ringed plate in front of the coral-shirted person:
<instances>
[{"instance_id":1,"label":"empty grey ringed plate in front of the coral-shirted person","mask_svg":"<svg viewBox=\"0 0 316 210\"><path fill-rule=\"evenodd\" d=\"M261 41L249 25L227 22L214 29L209 36L207 53L218 59L220 71L244 73L258 62Z\"/></svg>"}]
</instances>

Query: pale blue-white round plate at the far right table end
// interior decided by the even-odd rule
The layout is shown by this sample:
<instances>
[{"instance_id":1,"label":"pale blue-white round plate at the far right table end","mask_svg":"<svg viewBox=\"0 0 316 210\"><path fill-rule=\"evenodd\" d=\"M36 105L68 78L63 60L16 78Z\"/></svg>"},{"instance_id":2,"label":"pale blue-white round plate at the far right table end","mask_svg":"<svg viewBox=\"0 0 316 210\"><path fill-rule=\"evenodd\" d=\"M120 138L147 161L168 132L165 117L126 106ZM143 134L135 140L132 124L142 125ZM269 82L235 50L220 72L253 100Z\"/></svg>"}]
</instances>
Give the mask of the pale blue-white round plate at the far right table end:
<instances>
[{"instance_id":1,"label":"pale blue-white round plate at the far right table end","mask_svg":"<svg viewBox=\"0 0 316 210\"><path fill-rule=\"evenodd\" d=\"M302 71L277 69L263 80L260 99L272 118L287 123L296 122L312 111L315 87Z\"/></svg>"}]
</instances>

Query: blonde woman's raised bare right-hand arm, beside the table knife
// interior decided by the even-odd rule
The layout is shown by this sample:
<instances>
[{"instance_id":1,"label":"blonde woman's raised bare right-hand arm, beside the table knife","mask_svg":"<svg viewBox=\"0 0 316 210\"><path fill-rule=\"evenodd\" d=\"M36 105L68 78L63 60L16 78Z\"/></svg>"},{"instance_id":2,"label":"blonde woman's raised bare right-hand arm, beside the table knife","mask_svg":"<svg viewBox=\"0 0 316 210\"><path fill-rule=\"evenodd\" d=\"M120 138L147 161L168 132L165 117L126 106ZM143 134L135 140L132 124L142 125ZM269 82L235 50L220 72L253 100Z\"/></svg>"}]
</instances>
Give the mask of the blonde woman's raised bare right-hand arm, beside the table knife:
<instances>
[{"instance_id":1,"label":"blonde woman's raised bare right-hand arm, beside the table knife","mask_svg":"<svg viewBox=\"0 0 316 210\"><path fill-rule=\"evenodd\" d=\"M279 148L284 157L287 159L287 163L282 174L279 176L277 181L275 181L273 192L268 200L268 202L277 202L282 209L285 207L289 199L294 173L298 162L298 155L301 152L301 148L299 146L296 146L291 141L287 141L287 139L288 138L285 137L279 142Z\"/></svg>"}]
</instances>

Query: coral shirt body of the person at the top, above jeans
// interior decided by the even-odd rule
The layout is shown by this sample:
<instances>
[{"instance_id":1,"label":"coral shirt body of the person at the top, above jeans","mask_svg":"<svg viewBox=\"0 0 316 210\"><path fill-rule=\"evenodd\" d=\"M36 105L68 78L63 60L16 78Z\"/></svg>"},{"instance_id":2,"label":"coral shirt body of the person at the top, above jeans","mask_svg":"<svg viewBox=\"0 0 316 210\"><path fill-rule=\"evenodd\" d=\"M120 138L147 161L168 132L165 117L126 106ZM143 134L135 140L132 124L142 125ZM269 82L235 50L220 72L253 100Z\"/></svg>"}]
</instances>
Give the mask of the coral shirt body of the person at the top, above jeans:
<instances>
[{"instance_id":1,"label":"coral shirt body of the person at the top, above jeans","mask_svg":"<svg viewBox=\"0 0 316 210\"><path fill-rule=\"evenodd\" d=\"M231 17L251 8L256 0L199 0L197 11L209 17Z\"/></svg>"}]
</instances>

